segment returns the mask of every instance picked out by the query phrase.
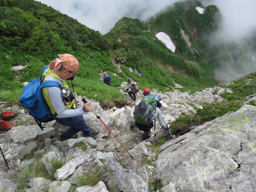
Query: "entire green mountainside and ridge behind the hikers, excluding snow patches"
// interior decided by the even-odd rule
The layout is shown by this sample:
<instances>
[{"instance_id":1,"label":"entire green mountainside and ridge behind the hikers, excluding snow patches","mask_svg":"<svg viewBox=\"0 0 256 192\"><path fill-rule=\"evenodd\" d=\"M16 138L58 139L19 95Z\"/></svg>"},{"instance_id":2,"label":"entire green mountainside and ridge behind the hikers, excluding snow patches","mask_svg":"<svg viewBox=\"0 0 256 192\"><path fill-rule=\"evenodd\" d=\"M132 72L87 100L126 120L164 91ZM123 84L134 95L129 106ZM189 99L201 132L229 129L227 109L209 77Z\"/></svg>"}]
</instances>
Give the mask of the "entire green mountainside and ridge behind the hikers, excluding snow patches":
<instances>
[{"instance_id":1,"label":"entire green mountainside and ridge behind the hikers, excluding snow patches","mask_svg":"<svg viewBox=\"0 0 256 192\"><path fill-rule=\"evenodd\" d=\"M225 81L216 75L216 69L222 72L231 68L238 76L249 74L255 61L240 44L209 45L206 37L219 27L219 9L210 5L200 14L196 6L203 7L199 1L176 3L147 21L124 17L102 36L99 31L40 2L2 0L0 98L9 98L8 93L17 102L22 83L38 78L41 69L63 53L73 54L80 63L78 77L74 79L78 95L121 103L124 97L119 92L120 84L128 78L136 81L141 90L157 88L169 92L177 83L183 87L178 88L180 91L193 93L217 86L216 77ZM175 53L156 38L158 32L171 37ZM253 44L252 47L255 48ZM121 65L122 71L114 63L116 55L126 60ZM17 65L27 67L13 71L11 67ZM143 71L143 77L129 68ZM111 86L100 80L102 71L112 74Z\"/></svg>"}]
</instances>

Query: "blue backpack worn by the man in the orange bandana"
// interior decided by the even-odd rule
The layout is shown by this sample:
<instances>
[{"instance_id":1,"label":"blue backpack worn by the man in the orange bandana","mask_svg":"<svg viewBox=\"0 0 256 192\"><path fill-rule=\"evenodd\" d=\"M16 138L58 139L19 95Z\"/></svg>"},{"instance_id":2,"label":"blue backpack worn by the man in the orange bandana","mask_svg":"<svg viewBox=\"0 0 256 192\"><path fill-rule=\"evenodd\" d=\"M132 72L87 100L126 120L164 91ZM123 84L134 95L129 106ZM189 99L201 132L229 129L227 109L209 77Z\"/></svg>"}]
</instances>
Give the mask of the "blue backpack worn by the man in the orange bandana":
<instances>
[{"instance_id":1,"label":"blue backpack worn by the man in the orange bandana","mask_svg":"<svg viewBox=\"0 0 256 192\"><path fill-rule=\"evenodd\" d=\"M43 129L42 123L50 122L55 119L57 114L52 115L51 110L44 99L42 88L55 86L62 86L56 81L43 81L43 73L48 68L45 66L42 70L41 77L38 79L31 79L27 86L23 89L19 102L27 108L28 113L34 117L38 126ZM26 109L25 109L26 110Z\"/></svg>"}]
</instances>

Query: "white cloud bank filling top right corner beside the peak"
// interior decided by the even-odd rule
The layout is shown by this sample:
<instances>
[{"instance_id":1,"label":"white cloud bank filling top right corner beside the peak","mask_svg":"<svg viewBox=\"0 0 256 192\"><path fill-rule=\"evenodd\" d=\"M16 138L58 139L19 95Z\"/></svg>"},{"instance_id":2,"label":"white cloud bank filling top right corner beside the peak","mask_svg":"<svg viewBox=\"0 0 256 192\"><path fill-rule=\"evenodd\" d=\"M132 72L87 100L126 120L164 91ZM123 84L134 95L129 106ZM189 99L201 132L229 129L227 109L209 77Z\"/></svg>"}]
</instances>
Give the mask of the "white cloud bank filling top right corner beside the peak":
<instances>
[{"instance_id":1,"label":"white cloud bank filling top right corner beside the peak","mask_svg":"<svg viewBox=\"0 0 256 192\"><path fill-rule=\"evenodd\" d=\"M255 0L202 0L204 6L216 5L223 16L215 34L220 42L239 42L250 38L256 30Z\"/></svg>"}]
</instances>

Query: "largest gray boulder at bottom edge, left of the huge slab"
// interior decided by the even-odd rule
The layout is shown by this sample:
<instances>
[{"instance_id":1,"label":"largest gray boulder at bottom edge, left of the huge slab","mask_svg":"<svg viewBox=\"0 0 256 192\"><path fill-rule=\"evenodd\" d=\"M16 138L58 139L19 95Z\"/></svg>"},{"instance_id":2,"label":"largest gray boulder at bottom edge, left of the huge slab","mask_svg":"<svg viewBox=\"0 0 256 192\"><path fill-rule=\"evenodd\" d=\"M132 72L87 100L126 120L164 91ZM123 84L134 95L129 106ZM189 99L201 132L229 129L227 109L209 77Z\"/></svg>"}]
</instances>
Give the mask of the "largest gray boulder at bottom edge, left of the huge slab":
<instances>
[{"instance_id":1,"label":"largest gray boulder at bottom edge, left of the huge slab","mask_svg":"<svg viewBox=\"0 0 256 192\"><path fill-rule=\"evenodd\" d=\"M131 170L124 169L112 159L108 159L101 167L101 180L107 188L115 188L116 191L137 192L148 191L148 183Z\"/></svg>"}]
</instances>

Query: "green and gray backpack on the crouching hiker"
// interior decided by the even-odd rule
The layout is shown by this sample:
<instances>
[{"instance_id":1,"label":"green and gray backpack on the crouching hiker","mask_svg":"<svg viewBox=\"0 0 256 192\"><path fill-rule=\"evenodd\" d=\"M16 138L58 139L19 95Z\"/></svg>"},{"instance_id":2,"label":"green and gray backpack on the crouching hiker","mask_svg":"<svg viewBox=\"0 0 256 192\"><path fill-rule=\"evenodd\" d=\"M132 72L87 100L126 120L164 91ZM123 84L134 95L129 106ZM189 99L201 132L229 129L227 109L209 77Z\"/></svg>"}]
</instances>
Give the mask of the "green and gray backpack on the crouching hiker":
<instances>
[{"instance_id":1,"label":"green and gray backpack on the crouching hiker","mask_svg":"<svg viewBox=\"0 0 256 192\"><path fill-rule=\"evenodd\" d=\"M154 97L144 97L134 109L134 120L142 125L152 125L151 118L155 114L157 100Z\"/></svg>"}]
</instances>

